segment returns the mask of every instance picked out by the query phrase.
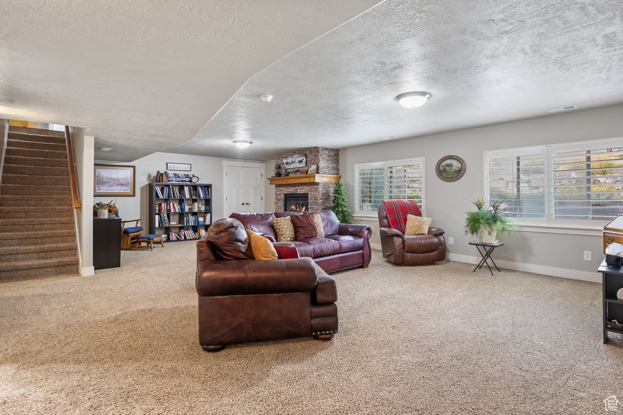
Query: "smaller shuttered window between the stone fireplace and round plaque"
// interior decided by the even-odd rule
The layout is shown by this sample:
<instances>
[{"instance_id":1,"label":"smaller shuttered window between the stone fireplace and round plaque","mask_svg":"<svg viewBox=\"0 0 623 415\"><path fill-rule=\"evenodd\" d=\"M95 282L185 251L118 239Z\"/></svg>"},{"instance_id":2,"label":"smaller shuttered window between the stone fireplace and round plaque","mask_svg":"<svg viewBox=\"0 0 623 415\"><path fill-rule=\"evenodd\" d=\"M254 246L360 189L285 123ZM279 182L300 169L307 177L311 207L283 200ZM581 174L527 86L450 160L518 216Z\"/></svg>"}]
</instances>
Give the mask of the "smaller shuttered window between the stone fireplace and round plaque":
<instances>
[{"instance_id":1,"label":"smaller shuttered window between the stone fireplace and round plaque","mask_svg":"<svg viewBox=\"0 0 623 415\"><path fill-rule=\"evenodd\" d=\"M369 215L379 203L412 199L424 210L422 200L424 158L355 165L355 210Z\"/></svg>"}]
</instances>

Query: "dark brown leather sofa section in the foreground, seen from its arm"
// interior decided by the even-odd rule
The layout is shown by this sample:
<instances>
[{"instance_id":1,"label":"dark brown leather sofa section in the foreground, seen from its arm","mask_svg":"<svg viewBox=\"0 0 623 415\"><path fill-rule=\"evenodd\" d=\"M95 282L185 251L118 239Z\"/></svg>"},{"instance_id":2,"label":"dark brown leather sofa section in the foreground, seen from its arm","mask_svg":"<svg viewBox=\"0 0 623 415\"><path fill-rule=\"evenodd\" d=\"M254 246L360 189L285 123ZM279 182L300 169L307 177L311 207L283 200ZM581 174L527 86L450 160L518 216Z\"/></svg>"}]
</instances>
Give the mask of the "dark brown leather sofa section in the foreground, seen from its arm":
<instances>
[{"instance_id":1,"label":"dark brown leather sofa section in the foreground, seen from its arm","mask_svg":"<svg viewBox=\"0 0 623 415\"><path fill-rule=\"evenodd\" d=\"M256 260L242 223L215 221L197 241L199 344L220 352L230 343L338 332L335 280L311 258Z\"/></svg>"}]
</instances>

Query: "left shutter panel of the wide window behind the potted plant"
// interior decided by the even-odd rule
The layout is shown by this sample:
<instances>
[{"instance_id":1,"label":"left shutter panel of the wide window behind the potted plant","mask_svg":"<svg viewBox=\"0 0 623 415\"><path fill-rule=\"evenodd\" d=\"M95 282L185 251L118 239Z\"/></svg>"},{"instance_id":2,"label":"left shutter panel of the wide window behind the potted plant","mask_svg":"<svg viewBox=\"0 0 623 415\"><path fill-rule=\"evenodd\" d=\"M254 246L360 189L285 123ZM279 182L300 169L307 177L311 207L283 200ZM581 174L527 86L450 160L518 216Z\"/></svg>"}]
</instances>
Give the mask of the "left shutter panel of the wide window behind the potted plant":
<instances>
[{"instance_id":1,"label":"left shutter panel of the wide window behind the potted plant","mask_svg":"<svg viewBox=\"0 0 623 415\"><path fill-rule=\"evenodd\" d=\"M485 153L485 188L489 200L501 200L511 217L545 223L545 147Z\"/></svg>"}]
</instances>

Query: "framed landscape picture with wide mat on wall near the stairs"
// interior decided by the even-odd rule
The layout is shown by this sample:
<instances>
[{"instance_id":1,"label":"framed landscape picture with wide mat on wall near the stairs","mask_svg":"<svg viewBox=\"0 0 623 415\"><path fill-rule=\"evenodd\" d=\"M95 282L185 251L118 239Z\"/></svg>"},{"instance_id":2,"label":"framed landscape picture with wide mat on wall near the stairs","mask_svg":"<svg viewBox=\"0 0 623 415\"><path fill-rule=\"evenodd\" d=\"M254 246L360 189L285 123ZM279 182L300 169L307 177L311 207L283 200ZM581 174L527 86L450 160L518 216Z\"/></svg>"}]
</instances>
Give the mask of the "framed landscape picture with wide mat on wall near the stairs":
<instances>
[{"instance_id":1,"label":"framed landscape picture with wide mat on wall near the stairs","mask_svg":"<svg viewBox=\"0 0 623 415\"><path fill-rule=\"evenodd\" d=\"M93 165L93 196L135 196L135 167Z\"/></svg>"}]
</instances>

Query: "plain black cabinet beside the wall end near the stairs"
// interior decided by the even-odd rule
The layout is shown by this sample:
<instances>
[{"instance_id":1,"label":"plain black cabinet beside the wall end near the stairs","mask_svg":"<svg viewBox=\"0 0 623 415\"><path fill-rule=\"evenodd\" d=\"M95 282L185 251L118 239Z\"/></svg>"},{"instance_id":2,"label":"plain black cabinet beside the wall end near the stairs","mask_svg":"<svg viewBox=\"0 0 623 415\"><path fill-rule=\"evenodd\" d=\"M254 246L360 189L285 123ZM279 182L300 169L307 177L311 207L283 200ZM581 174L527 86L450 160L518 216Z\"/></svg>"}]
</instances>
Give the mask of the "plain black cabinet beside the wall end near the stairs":
<instances>
[{"instance_id":1,"label":"plain black cabinet beside the wall end near the stairs","mask_svg":"<svg viewBox=\"0 0 623 415\"><path fill-rule=\"evenodd\" d=\"M121 219L93 217L93 268L121 266Z\"/></svg>"}]
</instances>

